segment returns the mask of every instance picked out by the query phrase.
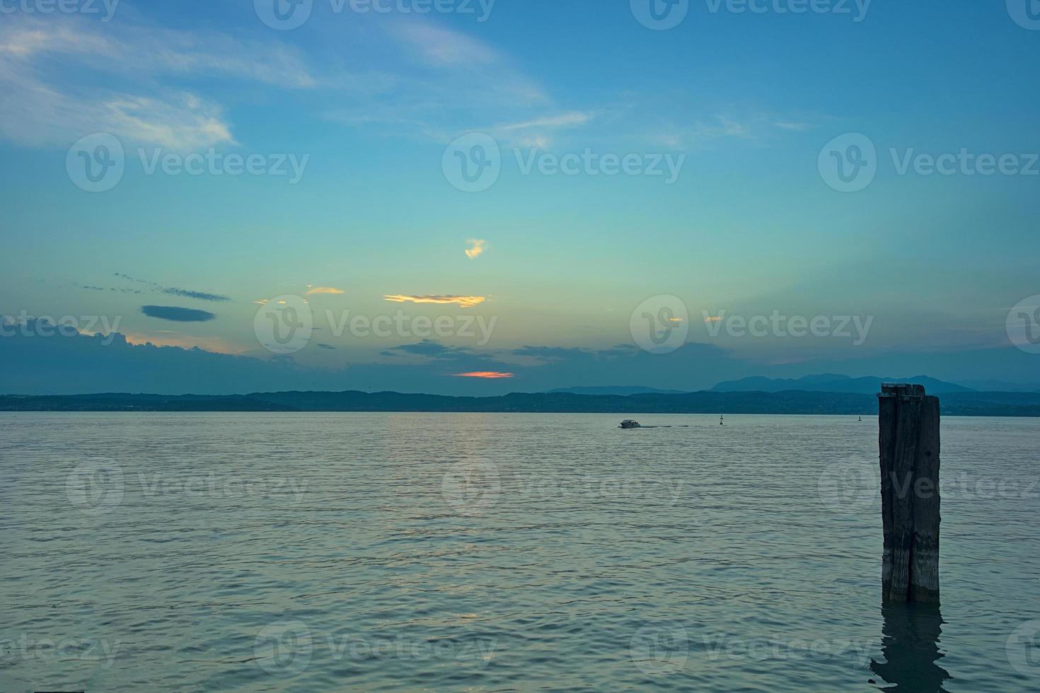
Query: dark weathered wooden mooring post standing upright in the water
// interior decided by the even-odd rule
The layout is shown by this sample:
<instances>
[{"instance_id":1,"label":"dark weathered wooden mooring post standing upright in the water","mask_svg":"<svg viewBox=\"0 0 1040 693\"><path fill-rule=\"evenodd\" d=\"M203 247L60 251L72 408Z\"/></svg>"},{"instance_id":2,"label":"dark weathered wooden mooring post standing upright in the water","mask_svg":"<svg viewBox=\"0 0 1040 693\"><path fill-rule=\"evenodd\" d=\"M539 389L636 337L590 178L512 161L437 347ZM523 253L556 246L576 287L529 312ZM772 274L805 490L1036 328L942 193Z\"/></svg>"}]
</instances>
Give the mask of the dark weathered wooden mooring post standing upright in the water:
<instances>
[{"instance_id":1,"label":"dark weathered wooden mooring post standing upright in the water","mask_svg":"<svg viewBox=\"0 0 1040 693\"><path fill-rule=\"evenodd\" d=\"M881 385L878 395L881 584L892 602L939 602L939 398L924 385Z\"/></svg>"}]
</instances>

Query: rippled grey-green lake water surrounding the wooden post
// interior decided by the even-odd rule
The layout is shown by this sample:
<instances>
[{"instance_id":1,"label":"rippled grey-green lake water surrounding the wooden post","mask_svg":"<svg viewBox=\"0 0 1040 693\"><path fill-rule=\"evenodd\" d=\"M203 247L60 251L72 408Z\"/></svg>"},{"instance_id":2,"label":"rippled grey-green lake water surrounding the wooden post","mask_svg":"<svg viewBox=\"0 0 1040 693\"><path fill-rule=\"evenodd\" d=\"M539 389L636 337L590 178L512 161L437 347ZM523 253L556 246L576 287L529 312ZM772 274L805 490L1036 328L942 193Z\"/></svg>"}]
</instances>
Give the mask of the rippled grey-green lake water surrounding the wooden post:
<instances>
[{"instance_id":1,"label":"rippled grey-green lake water surrounding the wooden post","mask_svg":"<svg viewBox=\"0 0 1040 693\"><path fill-rule=\"evenodd\" d=\"M0 691L1040 689L1040 421L943 420L941 610L875 419L725 424L0 415Z\"/></svg>"}]
</instances>

